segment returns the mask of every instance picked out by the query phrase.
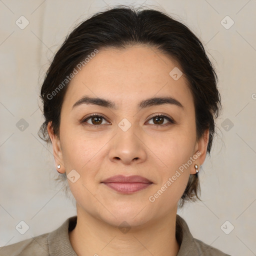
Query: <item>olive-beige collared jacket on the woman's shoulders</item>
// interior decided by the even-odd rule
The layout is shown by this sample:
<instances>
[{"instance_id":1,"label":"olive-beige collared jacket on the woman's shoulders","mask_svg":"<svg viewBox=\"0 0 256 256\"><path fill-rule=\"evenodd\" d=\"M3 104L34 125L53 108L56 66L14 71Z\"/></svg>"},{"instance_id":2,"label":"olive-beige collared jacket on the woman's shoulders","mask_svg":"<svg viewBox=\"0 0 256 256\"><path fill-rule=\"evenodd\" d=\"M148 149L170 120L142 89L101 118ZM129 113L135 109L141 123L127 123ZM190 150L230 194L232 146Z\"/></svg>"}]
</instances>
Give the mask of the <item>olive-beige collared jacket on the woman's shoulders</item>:
<instances>
[{"instance_id":1,"label":"olive-beige collared jacket on the woman's shoulders","mask_svg":"<svg viewBox=\"0 0 256 256\"><path fill-rule=\"evenodd\" d=\"M77 256L68 237L77 216L67 218L52 232L0 247L0 256ZM176 215L176 239L180 244L177 256L230 256L193 238L183 218ZM96 254L96 253L95 253Z\"/></svg>"}]
</instances>

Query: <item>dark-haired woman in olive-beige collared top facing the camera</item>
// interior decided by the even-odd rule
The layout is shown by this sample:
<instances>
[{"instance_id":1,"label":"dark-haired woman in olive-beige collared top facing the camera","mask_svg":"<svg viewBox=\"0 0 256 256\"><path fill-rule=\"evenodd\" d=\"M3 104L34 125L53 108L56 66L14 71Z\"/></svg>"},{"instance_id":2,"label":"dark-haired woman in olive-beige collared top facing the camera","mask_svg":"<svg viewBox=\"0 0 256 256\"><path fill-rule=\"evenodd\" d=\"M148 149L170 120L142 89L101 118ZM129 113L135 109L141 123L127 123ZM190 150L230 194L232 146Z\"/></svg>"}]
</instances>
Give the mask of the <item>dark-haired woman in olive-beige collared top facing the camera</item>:
<instances>
[{"instance_id":1,"label":"dark-haired woman in olive-beige collared top facing the camera","mask_svg":"<svg viewBox=\"0 0 256 256\"><path fill-rule=\"evenodd\" d=\"M227 255L176 214L198 198L216 83L199 39L163 12L116 6L83 21L41 87L40 134L77 216L1 255Z\"/></svg>"}]
</instances>

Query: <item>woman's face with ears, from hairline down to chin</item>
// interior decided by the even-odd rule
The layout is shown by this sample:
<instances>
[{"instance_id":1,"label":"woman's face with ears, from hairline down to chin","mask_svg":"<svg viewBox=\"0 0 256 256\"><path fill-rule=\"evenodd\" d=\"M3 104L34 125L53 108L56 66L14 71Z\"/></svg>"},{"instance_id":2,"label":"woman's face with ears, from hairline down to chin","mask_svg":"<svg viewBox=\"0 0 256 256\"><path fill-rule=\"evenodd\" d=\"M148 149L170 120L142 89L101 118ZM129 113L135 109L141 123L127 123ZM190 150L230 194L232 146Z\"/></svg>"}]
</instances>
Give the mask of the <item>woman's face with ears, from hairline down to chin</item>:
<instances>
[{"instance_id":1,"label":"woman's face with ears, from hairline down to chin","mask_svg":"<svg viewBox=\"0 0 256 256\"><path fill-rule=\"evenodd\" d=\"M49 125L48 132L56 165L62 163L60 171L69 177L80 211L130 226L176 212L208 142L207 132L196 140L192 94L177 71L177 64L156 49L132 46L99 50L72 78L61 108L59 140ZM81 101L85 96L115 108L99 100ZM154 97L173 100L145 101ZM87 118L91 114L97 116ZM146 181L106 181L116 175Z\"/></svg>"}]
</instances>

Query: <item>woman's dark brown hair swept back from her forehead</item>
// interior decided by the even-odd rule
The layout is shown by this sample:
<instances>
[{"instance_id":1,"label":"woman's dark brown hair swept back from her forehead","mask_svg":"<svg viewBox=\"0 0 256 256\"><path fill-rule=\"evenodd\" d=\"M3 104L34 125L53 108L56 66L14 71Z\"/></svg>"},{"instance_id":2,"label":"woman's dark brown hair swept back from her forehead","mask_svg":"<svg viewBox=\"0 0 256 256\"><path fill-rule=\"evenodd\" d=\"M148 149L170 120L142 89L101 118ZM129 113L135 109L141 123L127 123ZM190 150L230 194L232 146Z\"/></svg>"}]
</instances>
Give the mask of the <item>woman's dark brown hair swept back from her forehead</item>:
<instances>
[{"instance_id":1,"label":"woman's dark brown hair swept back from her forehead","mask_svg":"<svg viewBox=\"0 0 256 256\"><path fill-rule=\"evenodd\" d=\"M143 7L141 7L143 8ZM107 47L124 49L132 45L154 47L176 61L193 95L195 106L196 138L209 129L207 152L210 154L215 131L214 117L221 108L217 89L217 75L208 59L200 40L181 22L163 11L134 9L118 5L98 12L77 25L58 49L46 72L41 86L40 98L43 103L45 121L38 135L50 142L47 124L51 122L53 132L59 135L60 111L66 88L54 93L63 84L75 66L95 49ZM59 174L66 181L66 175ZM68 186L68 183L66 182ZM190 175L187 186L179 201L179 207L187 200L199 199L200 186L197 173Z\"/></svg>"}]
</instances>

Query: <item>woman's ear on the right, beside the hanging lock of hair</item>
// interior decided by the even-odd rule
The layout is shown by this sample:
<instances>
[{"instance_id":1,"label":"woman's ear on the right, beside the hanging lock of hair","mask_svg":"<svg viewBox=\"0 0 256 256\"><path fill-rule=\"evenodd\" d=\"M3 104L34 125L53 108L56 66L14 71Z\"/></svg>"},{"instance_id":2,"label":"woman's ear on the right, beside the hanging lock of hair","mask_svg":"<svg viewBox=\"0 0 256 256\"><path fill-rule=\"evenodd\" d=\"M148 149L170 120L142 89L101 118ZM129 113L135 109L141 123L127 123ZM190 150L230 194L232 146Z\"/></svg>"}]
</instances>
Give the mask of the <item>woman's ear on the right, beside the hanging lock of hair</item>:
<instances>
[{"instance_id":1,"label":"woman's ear on the right, beside the hanging lock of hair","mask_svg":"<svg viewBox=\"0 0 256 256\"><path fill-rule=\"evenodd\" d=\"M203 164L206 153L207 153L207 146L209 142L209 129L206 129L203 133L203 135L198 139L198 141L195 144L195 152L194 154L197 155L197 159L193 162L193 164L198 165L198 170L200 169L200 166ZM195 168L192 166L190 169L190 174L195 174Z\"/></svg>"}]
</instances>

